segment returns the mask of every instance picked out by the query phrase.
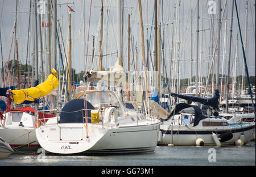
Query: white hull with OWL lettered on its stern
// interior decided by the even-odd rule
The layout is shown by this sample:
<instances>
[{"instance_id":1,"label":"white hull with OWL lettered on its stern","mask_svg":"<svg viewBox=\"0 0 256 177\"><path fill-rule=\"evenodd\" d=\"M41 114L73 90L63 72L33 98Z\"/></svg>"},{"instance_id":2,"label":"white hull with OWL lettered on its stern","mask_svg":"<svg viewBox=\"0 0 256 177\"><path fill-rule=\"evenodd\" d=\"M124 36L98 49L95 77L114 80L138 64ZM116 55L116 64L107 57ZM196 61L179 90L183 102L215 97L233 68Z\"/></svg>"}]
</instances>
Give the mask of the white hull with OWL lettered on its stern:
<instances>
[{"instance_id":1,"label":"white hull with OWL lettered on its stern","mask_svg":"<svg viewBox=\"0 0 256 177\"><path fill-rule=\"evenodd\" d=\"M160 123L107 127L83 123L44 125L36 129L39 144L51 153L131 153L154 151Z\"/></svg>"}]
</instances>

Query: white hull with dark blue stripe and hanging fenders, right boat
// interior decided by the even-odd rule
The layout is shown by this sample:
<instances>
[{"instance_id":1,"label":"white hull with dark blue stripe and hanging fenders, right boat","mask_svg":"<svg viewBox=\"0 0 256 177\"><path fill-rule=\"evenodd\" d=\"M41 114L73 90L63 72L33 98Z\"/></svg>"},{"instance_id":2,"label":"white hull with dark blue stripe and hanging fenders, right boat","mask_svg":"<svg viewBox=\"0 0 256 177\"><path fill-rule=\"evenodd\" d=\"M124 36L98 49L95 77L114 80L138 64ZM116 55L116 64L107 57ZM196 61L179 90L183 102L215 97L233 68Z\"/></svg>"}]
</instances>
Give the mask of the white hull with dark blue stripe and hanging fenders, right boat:
<instances>
[{"instance_id":1,"label":"white hull with dark blue stripe and hanging fenders, right boat","mask_svg":"<svg viewBox=\"0 0 256 177\"><path fill-rule=\"evenodd\" d=\"M217 135L223 134L225 132L232 132L233 138L228 141L221 142L221 145L234 145L236 141L240 139L241 134L244 134L243 145L247 144L252 138L253 134L255 133L255 124L254 125L236 125L236 128L232 128L231 126L223 127L223 128L205 128L205 129L196 129L195 127L185 127L182 126L179 129L177 126L174 126L173 130L171 131L171 127L163 127L160 126L160 131L162 133L162 137L159 137L159 145L188 145L188 146L195 146L196 140L198 138L202 138L204 140L204 145L216 145L216 142L213 139L212 133Z\"/></svg>"}]
</instances>

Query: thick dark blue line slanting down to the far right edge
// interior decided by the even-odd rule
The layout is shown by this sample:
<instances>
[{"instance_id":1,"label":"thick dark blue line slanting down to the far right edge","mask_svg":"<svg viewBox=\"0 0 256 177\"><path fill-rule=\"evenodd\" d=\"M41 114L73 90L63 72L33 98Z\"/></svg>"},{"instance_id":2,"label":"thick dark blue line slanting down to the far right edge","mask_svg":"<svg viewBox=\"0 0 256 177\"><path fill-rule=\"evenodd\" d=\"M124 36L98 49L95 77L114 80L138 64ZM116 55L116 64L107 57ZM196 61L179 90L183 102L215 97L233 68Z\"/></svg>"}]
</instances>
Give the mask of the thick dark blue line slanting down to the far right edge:
<instances>
[{"instance_id":1,"label":"thick dark blue line slanting down to the far right edge","mask_svg":"<svg viewBox=\"0 0 256 177\"><path fill-rule=\"evenodd\" d=\"M249 78L248 68L247 68L247 64L246 64L245 48L243 47L243 39L242 39L242 34L241 34L240 20L239 20L238 11L237 11L237 1L234 0L234 2L235 2L236 12L237 12L237 21L238 21L238 27L239 27L239 32L240 32L240 39L241 39L241 43L242 43L243 61L245 62L245 72L246 72L248 88L249 88L248 92L251 96L251 102L252 102L253 111L254 111L254 115L255 115L255 108L254 108L254 103L253 103L253 94L251 92L250 78Z\"/></svg>"}]
</instances>

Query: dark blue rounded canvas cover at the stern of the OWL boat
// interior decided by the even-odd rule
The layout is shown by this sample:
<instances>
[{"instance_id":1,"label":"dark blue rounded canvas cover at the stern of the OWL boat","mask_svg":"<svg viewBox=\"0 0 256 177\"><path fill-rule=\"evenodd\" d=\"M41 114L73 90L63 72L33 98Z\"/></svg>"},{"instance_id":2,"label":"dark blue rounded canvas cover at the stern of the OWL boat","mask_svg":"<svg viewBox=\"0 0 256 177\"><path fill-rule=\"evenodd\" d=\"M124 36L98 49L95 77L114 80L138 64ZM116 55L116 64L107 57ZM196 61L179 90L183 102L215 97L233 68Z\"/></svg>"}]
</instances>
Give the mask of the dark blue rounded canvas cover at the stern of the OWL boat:
<instances>
[{"instance_id":1,"label":"dark blue rounded canvas cover at the stern of the OWL boat","mask_svg":"<svg viewBox=\"0 0 256 177\"><path fill-rule=\"evenodd\" d=\"M90 102L86 101L87 109L94 109ZM73 99L70 100L65 106L61 109L60 112L60 123L85 123L85 119L82 120L82 117L85 117L84 109L84 99ZM91 123L90 111L87 111L88 123Z\"/></svg>"}]
</instances>

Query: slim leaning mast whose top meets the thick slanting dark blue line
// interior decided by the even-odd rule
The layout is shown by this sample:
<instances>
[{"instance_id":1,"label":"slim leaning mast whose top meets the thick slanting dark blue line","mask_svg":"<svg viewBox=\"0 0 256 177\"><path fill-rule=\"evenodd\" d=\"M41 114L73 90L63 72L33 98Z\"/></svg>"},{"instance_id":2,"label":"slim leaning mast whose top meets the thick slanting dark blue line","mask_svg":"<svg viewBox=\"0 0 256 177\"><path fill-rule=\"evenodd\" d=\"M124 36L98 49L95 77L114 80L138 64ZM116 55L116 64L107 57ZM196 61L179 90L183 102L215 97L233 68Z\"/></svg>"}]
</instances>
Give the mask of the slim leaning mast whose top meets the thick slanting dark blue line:
<instances>
[{"instance_id":1,"label":"slim leaning mast whose top meets the thick slanting dark blue line","mask_svg":"<svg viewBox=\"0 0 256 177\"><path fill-rule=\"evenodd\" d=\"M229 70L230 70L230 58L231 58L231 44L232 44L232 28L233 28L233 14L234 14L234 0L232 1L232 12L231 12L231 24L230 24L230 37L229 37L229 61L228 61L228 78L226 81L226 112L228 112L228 101L229 101Z\"/></svg>"}]
</instances>

